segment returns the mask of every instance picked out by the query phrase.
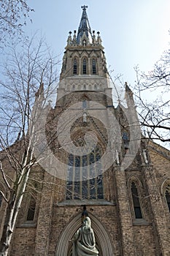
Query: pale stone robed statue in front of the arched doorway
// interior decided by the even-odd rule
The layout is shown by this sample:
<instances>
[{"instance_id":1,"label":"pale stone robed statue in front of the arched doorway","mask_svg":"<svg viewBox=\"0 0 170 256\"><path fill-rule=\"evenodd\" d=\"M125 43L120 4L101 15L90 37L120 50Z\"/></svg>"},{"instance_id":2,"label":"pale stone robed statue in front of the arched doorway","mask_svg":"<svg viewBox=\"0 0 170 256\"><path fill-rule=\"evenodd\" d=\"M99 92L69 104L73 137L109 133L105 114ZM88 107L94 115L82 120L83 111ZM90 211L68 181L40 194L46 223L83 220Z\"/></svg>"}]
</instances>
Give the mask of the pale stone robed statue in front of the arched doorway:
<instances>
[{"instance_id":1,"label":"pale stone robed statue in front of the arched doorway","mask_svg":"<svg viewBox=\"0 0 170 256\"><path fill-rule=\"evenodd\" d=\"M98 256L96 242L89 217L85 217L82 227L74 235L72 256Z\"/></svg>"}]
</instances>

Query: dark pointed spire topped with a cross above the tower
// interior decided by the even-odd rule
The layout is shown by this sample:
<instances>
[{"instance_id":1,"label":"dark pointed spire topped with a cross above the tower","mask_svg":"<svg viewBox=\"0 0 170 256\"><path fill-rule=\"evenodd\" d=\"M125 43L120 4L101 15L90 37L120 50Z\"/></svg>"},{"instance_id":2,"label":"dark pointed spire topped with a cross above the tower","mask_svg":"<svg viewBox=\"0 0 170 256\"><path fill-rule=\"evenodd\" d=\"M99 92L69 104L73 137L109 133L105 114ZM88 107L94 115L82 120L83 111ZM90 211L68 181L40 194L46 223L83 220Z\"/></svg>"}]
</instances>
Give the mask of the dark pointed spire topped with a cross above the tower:
<instances>
[{"instance_id":1,"label":"dark pointed spire topped with a cross above the tower","mask_svg":"<svg viewBox=\"0 0 170 256\"><path fill-rule=\"evenodd\" d=\"M89 41L91 41L92 34L91 34L90 24L88 21L88 15L86 12L87 8L88 7L85 5L82 6L82 18L80 20L80 26L77 33L77 44L80 44L80 38L82 37L84 32L86 37L88 37Z\"/></svg>"}]
</instances>

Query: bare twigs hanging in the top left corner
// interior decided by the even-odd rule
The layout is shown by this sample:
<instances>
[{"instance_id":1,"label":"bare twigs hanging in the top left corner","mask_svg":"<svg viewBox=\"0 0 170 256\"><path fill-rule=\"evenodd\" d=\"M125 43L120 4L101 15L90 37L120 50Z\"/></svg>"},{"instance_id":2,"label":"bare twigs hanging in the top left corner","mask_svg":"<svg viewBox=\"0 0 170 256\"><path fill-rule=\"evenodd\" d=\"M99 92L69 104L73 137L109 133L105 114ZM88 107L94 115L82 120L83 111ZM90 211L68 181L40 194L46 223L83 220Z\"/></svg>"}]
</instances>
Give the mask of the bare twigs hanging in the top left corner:
<instances>
[{"instance_id":1,"label":"bare twigs hanging in the top left corner","mask_svg":"<svg viewBox=\"0 0 170 256\"><path fill-rule=\"evenodd\" d=\"M29 13L34 11L26 0L0 1L0 47L15 34L22 34Z\"/></svg>"}]
</instances>

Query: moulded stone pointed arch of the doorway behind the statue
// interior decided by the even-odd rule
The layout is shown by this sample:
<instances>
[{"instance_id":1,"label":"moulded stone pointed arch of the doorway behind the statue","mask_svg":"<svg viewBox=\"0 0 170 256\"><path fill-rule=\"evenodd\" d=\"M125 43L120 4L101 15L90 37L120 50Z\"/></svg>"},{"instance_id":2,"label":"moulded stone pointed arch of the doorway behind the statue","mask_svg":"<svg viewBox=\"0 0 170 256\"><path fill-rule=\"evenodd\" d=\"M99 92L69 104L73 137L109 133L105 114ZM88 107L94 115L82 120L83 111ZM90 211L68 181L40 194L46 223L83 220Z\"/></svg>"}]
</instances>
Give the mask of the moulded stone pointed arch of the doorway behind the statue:
<instances>
[{"instance_id":1,"label":"moulded stone pointed arch of the doorway behind the statue","mask_svg":"<svg viewBox=\"0 0 170 256\"><path fill-rule=\"evenodd\" d=\"M114 256L115 249L112 246L111 238L107 232L106 227L93 215L88 214L91 222L93 231L95 233L96 245L99 249L100 256ZM58 239L58 244L55 249L55 256L69 256L72 250L72 238L74 233L80 228L81 224L81 214L77 214L68 225L64 228L61 236Z\"/></svg>"}]
</instances>

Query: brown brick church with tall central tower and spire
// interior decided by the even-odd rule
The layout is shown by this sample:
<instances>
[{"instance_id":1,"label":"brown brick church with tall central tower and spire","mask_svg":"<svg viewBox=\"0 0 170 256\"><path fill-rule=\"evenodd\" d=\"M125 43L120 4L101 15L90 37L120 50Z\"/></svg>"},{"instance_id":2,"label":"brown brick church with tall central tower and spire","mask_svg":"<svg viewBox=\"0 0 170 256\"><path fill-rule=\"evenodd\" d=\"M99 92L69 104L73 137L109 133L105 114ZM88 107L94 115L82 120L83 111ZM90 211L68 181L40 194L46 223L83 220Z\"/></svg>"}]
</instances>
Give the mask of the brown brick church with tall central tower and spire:
<instances>
[{"instance_id":1,"label":"brown brick church with tall central tower and spire","mask_svg":"<svg viewBox=\"0 0 170 256\"><path fill-rule=\"evenodd\" d=\"M127 83L125 99L113 105L101 36L91 31L84 6L47 116L58 164L31 170L35 189L23 198L10 256L72 256L86 214L99 256L170 255L170 152L142 137ZM4 210L1 200L1 223Z\"/></svg>"}]
</instances>

